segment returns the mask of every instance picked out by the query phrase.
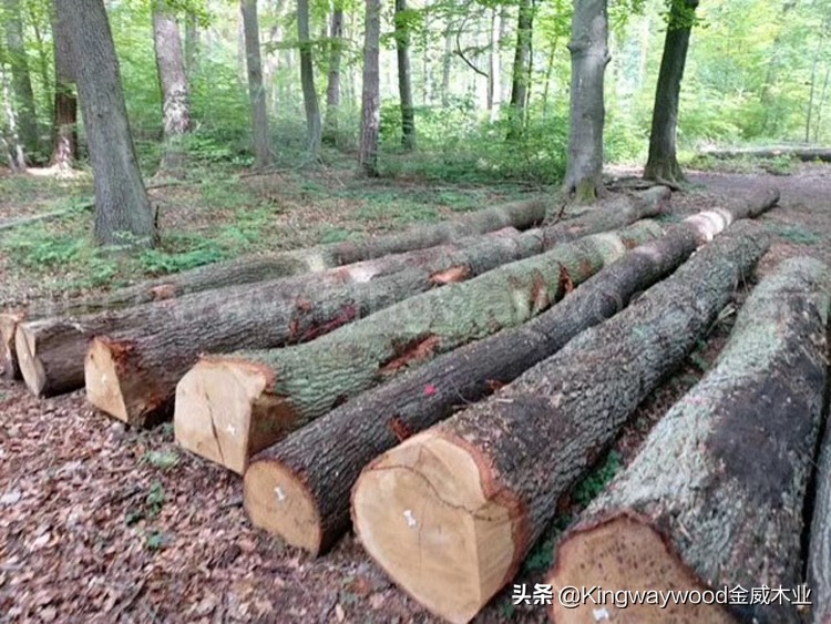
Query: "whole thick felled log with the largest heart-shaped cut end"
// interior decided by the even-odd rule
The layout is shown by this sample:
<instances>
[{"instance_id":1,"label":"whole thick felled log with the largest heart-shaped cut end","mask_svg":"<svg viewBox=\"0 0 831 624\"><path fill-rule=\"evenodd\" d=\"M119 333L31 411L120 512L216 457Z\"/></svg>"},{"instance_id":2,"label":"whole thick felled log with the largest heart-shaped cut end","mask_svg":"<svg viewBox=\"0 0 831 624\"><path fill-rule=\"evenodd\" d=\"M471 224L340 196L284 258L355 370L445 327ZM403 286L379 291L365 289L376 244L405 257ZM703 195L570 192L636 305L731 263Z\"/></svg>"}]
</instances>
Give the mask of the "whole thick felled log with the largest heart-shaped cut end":
<instances>
[{"instance_id":1,"label":"whole thick felled log with the largest heart-shaped cut end","mask_svg":"<svg viewBox=\"0 0 831 624\"><path fill-rule=\"evenodd\" d=\"M352 492L369 555L433 613L472 618L766 248L759 232L717 238L493 397L376 459Z\"/></svg>"}]
</instances>

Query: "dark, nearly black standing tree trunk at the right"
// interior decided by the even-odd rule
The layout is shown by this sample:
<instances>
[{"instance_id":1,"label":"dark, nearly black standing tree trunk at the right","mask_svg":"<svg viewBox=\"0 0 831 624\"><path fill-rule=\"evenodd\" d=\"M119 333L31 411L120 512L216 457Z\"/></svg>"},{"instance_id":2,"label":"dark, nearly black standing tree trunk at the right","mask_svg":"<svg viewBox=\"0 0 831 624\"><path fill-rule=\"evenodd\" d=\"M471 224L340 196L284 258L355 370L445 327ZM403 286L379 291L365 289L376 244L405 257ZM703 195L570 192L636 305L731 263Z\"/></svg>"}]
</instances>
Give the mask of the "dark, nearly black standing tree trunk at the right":
<instances>
[{"instance_id":1,"label":"dark, nearly black standing tree trunk at the right","mask_svg":"<svg viewBox=\"0 0 831 624\"><path fill-rule=\"evenodd\" d=\"M658 85L655 89L649 158L644 168L644 177L647 180L667 181L673 185L687 181L678 164L676 137L678 100L697 7L698 0L671 1L664 55L660 59L658 72Z\"/></svg>"}]
</instances>

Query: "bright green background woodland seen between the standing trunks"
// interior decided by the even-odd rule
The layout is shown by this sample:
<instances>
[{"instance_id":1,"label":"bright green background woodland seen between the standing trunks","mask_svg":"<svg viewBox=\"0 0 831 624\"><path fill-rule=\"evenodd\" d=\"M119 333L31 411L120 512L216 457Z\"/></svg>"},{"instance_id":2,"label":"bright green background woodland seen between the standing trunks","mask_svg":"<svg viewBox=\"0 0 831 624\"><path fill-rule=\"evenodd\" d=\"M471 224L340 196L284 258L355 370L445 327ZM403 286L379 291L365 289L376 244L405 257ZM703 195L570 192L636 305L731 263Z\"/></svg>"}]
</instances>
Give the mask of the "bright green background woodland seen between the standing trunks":
<instances>
[{"instance_id":1,"label":"bright green background woodland seen between the standing trunks","mask_svg":"<svg viewBox=\"0 0 831 624\"><path fill-rule=\"evenodd\" d=\"M519 4L416 0L402 9L399 0L398 12L392 2L382 6L382 174L550 183L562 178L568 136L566 44L572 3L531 1L526 6L525 0L519 0ZM146 0L107 2L133 135L148 173L160 162L162 130L152 4ZM305 47L298 41L297 9L297 3L284 0L260 2L258 7L271 145L285 166L298 164L307 147L301 50L310 52L314 64L314 90L326 142L343 152L355 151L360 121L362 3L342 0L334 6L312 0ZM193 132L187 149L208 161L252 164L239 6L186 0L173 2L170 10L181 25L191 91ZM522 59L516 51L521 10L527 16L522 28L533 33L526 67L517 63ZM339 23L334 24L334 18ZM681 155L714 142L828 139L831 127L824 112L831 72L827 44L831 2L710 0L700 4L697 18L681 89ZM34 117L38 140L29 140L29 156L45 163L55 105L50 3L6 0L1 21L6 27L4 95L8 100L11 91L20 92L9 89L14 83L30 82L32 102L18 99L17 113L23 125L25 117ZM397 23L410 44L418 146L418 155L406 158L397 157L403 149ZM666 3L611 2L609 23L605 156L611 162L643 162L666 30ZM9 71L21 67L13 62L21 41L25 79ZM331 92L332 74L339 74L339 98ZM514 93L514 81L523 83L524 93ZM513 133L514 141L506 144L504 137L512 134L515 123L515 116L509 114L514 108L520 111L525 132Z\"/></svg>"}]
</instances>

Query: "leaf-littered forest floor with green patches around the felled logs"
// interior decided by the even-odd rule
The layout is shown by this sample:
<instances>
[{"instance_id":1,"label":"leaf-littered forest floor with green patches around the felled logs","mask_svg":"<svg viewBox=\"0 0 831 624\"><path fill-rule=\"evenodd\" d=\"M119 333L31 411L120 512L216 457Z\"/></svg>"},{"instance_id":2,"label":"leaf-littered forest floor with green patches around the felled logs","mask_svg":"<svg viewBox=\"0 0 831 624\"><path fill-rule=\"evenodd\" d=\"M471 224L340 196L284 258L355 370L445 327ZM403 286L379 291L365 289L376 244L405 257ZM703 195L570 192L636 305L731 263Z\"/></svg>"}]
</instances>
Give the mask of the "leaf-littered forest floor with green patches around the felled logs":
<instances>
[{"instance_id":1,"label":"leaf-littered forest floor with green patches around the felled logs","mask_svg":"<svg viewBox=\"0 0 831 624\"><path fill-rule=\"evenodd\" d=\"M719 197L776 185L782 192L780 207L761 219L776 242L760 270L799 254L831 263L829 173L820 165L800 165L784 176L696 173L691 175L696 187L674 195L674 212L686 215ZM0 188L7 182L0 178ZM90 192L88 180L71 184L76 185L73 196ZM302 184L306 191L298 186ZM275 174L246 178L239 187L259 200L261 215L256 227L250 226L255 234L276 233L285 246L325 241L331 232L402 227L408 221L425 219L425 213L430 218L448 216L460 206L480 207L517 193L485 187L437 191L411 182L404 185L406 198L412 214L421 215L411 218L412 214L402 217L393 212L402 195L392 197L391 185L360 184L366 183L351 178L302 183ZM0 196L0 221L47 209L66 195L64 186L48 180L27 182L24 192L16 182L13 191ZM225 193L214 190L220 192ZM228 194L223 201L233 205L199 212L197 198L178 186L153 193L163 206L162 227L176 228L188 241L201 233L215 237L216 232L233 227L240 231L239 241L254 236L234 222L240 214L250 218L252 211ZM90 215L83 211L79 215L79 223L89 228ZM29 247L21 233L9 236L11 244L9 237L3 244L0 234L0 304L21 298L21 293L25 298L68 285L95 288L79 282L90 267L102 272L103 282L120 272L147 272L154 266L151 258L147 266L107 265L104 270L100 263L109 260L84 256L86 252L78 246L72 250L73 227L44 225L34 234L27 228L33 241ZM69 248L57 259L49 255L54 241ZM39 246L45 248L38 250ZM248 250L259 250L257 243L250 243ZM41 260L45 268L38 264L38 254L47 258ZM182 268L175 265L179 256L156 256L154 262ZM633 457L650 426L712 365L730 324L728 316L714 328L685 366L640 407L602 467L562 502L556 526L529 556L517 583L544 582L556 531ZM240 485L236 474L179 451L171 426L131 430L96 413L82 392L41 400L21 385L0 381L0 622L434 621L389 582L353 535L311 561L254 530L242 508ZM476 620L545 621L543 607L514 607L511 586Z\"/></svg>"}]
</instances>

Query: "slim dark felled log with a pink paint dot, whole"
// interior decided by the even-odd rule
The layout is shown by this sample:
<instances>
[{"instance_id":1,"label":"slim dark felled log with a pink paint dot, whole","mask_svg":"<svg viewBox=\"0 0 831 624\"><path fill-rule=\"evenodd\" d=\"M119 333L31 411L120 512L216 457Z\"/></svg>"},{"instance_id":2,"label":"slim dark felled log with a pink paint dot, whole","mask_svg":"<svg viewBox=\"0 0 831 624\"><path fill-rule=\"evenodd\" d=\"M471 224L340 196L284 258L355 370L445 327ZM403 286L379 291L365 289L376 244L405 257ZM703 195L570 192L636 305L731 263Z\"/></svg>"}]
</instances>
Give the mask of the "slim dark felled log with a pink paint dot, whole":
<instances>
[{"instance_id":1,"label":"slim dark felled log with a pink paint dot, whole","mask_svg":"<svg viewBox=\"0 0 831 624\"><path fill-rule=\"evenodd\" d=\"M633 249L540 317L442 355L261 451L245 471L244 502L252 523L315 556L327 551L349 528L352 484L373 458L448 418L460 405L481 400L614 316L730 221L757 216L773 200L771 194L758 204L673 225L663 238Z\"/></svg>"}]
</instances>

